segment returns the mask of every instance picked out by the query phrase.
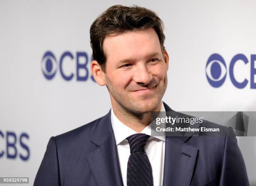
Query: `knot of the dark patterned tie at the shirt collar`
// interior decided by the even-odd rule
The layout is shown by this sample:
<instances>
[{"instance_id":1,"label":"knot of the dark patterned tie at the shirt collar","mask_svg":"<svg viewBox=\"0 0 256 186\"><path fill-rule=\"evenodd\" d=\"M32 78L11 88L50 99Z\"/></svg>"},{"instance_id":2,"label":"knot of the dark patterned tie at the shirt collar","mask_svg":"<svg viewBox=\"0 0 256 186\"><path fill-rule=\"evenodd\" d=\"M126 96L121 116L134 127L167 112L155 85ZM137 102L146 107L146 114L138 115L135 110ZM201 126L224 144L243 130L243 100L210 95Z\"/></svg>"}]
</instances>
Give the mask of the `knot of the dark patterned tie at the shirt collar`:
<instances>
[{"instance_id":1,"label":"knot of the dark patterned tie at the shirt collar","mask_svg":"<svg viewBox=\"0 0 256 186\"><path fill-rule=\"evenodd\" d=\"M144 133L137 133L127 137L126 139L130 145L131 153L136 151L144 151L144 146L149 137L150 136Z\"/></svg>"}]
</instances>

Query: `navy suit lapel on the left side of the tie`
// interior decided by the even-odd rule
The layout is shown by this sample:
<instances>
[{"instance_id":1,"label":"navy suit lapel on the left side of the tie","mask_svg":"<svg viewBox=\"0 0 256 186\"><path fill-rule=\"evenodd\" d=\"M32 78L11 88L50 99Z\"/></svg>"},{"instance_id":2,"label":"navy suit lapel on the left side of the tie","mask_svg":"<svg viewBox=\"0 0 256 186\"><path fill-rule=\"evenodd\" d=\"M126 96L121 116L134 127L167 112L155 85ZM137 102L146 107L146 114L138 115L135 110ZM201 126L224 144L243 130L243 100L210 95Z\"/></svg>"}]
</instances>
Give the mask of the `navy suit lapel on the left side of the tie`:
<instances>
[{"instance_id":1,"label":"navy suit lapel on the left side of the tie","mask_svg":"<svg viewBox=\"0 0 256 186\"><path fill-rule=\"evenodd\" d=\"M97 186L123 186L110 114L109 111L95 125L96 128L92 132L91 141L98 148L86 155Z\"/></svg>"}]
</instances>

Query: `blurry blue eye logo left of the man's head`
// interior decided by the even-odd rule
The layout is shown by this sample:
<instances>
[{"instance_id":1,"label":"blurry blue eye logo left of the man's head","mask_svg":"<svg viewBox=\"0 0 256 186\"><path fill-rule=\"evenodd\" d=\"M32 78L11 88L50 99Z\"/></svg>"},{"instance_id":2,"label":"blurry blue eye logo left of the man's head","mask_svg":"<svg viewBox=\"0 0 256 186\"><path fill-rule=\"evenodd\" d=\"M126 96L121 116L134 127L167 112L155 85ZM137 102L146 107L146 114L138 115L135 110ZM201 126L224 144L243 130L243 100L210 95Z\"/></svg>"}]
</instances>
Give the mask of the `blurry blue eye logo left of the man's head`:
<instances>
[{"instance_id":1,"label":"blurry blue eye logo left of the man's head","mask_svg":"<svg viewBox=\"0 0 256 186\"><path fill-rule=\"evenodd\" d=\"M41 62L41 69L44 74L44 77L48 80L51 80L57 71L57 62L53 53L47 51L44 54L44 57Z\"/></svg>"}]
</instances>

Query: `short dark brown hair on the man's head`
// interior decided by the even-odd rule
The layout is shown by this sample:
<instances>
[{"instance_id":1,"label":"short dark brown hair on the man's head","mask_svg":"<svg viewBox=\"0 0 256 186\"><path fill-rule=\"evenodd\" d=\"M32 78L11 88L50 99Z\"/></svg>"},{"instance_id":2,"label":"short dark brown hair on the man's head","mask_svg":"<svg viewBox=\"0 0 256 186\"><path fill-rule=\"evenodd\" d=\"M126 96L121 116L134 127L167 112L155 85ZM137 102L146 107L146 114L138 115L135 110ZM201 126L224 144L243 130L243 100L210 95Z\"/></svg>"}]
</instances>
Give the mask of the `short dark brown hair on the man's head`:
<instances>
[{"instance_id":1,"label":"short dark brown hair on the man's head","mask_svg":"<svg viewBox=\"0 0 256 186\"><path fill-rule=\"evenodd\" d=\"M102 44L107 35L145 30L151 27L156 31L163 51L165 49L164 25L156 13L136 5L133 7L122 5L111 6L97 17L90 28L90 42L94 60L97 60L105 72L106 56Z\"/></svg>"}]
</instances>

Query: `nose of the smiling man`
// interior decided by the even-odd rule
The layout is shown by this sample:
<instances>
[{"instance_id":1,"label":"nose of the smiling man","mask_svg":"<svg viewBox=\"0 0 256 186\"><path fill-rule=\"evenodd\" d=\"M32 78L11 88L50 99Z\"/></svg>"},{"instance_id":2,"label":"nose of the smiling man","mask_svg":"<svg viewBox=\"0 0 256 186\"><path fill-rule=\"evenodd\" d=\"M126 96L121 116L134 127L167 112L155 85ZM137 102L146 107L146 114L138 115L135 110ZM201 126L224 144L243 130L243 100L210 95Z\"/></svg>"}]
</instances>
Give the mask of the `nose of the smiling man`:
<instances>
[{"instance_id":1,"label":"nose of the smiling man","mask_svg":"<svg viewBox=\"0 0 256 186\"><path fill-rule=\"evenodd\" d=\"M133 75L133 80L138 84L147 85L153 76L148 71L148 68L145 64L140 64L136 66L135 73Z\"/></svg>"}]
</instances>

